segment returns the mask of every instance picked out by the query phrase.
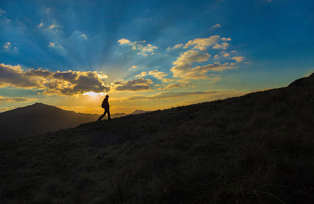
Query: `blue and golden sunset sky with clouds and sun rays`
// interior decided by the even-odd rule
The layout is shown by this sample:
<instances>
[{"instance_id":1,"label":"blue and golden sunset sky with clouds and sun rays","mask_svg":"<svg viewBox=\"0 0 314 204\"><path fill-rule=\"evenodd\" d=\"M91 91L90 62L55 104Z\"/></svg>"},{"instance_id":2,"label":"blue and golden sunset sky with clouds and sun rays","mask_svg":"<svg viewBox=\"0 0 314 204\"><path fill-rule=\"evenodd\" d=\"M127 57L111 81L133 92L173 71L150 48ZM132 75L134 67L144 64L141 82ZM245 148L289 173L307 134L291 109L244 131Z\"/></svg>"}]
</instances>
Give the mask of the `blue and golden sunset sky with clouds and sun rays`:
<instances>
[{"instance_id":1,"label":"blue and golden sunset sky with clouds and sun rays","mask_svg":"<svg viewBox=\"0 0 314 204\"><path fill-rule=\"evenodd\" d=\"M101 114L285 87L314 72L314 2L0 2L0 112Z\"/></svg>"}]
</instances>

